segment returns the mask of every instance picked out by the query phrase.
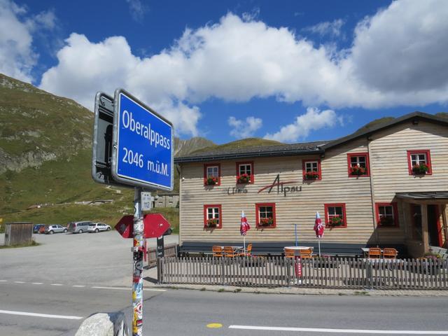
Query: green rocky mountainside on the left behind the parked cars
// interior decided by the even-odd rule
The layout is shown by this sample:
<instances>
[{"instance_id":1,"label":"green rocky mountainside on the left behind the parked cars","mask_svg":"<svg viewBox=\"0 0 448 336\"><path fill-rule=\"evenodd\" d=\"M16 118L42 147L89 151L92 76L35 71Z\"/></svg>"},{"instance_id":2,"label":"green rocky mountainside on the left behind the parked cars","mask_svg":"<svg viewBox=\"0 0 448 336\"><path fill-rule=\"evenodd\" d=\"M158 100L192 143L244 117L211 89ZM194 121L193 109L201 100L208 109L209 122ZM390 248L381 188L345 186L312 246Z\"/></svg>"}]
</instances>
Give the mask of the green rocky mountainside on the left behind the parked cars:
<instances>
[{"instance_id":1,"label":"green rocky mountainside on the left behind the parked cars","mask_svg":"<svg viewBox=\"0 0 448 336\"><path fill-rule=\"evenodd\" d=\"M101 186L90 177L92 123L93 113L73 100L0 74L0 218L90 218L91 209L76 205L73 211L67 204L98 199L113 200L104 211L94 209L98 220L130 210L131 190ZM176 138L175 153L213 145L199 137ZM33 204L43 207L25 211Z\"/></svg>"}]
</instances>

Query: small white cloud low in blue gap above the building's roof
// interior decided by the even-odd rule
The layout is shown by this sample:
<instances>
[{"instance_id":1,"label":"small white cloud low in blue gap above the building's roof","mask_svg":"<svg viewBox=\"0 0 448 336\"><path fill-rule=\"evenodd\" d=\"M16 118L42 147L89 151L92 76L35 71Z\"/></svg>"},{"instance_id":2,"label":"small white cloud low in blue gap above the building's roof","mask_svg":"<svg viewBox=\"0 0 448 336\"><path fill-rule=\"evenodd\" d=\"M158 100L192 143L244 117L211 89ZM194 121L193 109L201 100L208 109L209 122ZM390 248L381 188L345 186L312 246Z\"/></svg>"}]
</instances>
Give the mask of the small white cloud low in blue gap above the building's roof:
<instances>
[{"instance_id":1,"label":"small white cloud low in blue gap above the building's roof","mask_svg":"<svg viewBox=\"0 0 448 336\"><path fill-rule=\"evenodd\" d=\"M342 124L342 122L342 117L337 116L335 111L319 111L316 108L309 107L307 113L295 118L294 123L281 127L279 132L274 134L266 134L265 139L295 142L308 137L310 132L327 127L335 127L335 125Z\"/></svg>"}]
</instances>

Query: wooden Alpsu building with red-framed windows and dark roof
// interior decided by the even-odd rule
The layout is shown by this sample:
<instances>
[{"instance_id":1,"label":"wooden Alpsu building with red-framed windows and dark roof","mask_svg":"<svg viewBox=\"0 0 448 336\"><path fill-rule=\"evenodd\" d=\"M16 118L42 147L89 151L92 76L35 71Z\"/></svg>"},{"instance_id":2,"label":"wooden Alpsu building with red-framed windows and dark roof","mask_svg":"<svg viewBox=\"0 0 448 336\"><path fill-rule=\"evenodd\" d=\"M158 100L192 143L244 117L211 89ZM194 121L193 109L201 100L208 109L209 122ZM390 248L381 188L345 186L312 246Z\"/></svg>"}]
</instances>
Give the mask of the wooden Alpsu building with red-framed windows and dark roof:
<instances>
[{"instance_id":1,"label":"wooden Alpsu building with red-framed windows and dark roof","mask_svg":"<svg viewBox=\"0 0 448 336\"><path fill-rule=\"evenodd\" d=\"M180 165L183 252L241 245L241 211L253 252L317 246L360 254L393 246L419 257L447 241L448 120L414 112L334 141L203 151Z\"/></svg>"}]
</instances>

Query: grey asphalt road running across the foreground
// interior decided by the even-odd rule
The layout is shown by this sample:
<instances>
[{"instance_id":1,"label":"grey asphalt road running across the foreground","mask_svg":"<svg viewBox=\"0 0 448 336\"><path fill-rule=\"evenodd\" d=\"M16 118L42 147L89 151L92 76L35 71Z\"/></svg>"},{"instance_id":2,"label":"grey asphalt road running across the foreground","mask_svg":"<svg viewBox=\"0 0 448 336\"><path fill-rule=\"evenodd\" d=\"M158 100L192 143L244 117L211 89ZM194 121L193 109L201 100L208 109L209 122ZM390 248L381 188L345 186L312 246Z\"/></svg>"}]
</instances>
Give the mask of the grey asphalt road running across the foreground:
<instances>
[{"instance_id":1,"label":"grey asphalt road running across the foreground","mask_svg":"<svg viewBox=\"0 0 448 336\"><path fill-rule=\"evenodd\" d=\"M407 335L403 330L447 330L438 335L448 335L446 298L197 290L145 291L144 298L144 335L331 336L346 335L353 329L375 330L381 335L393 335L384 330L394 330L395 335ZM66 319L67 316L84 318L97 311L121 310L130 321L129 303L130 290L3 281L0 282L0 335L74 335L83 320ZM15 316L10 311L55 314L63 318ZM222 326L210 329L207 327L210 323ZM279 330L279 327L293 329Z\"/></svg>"}]
</instances>

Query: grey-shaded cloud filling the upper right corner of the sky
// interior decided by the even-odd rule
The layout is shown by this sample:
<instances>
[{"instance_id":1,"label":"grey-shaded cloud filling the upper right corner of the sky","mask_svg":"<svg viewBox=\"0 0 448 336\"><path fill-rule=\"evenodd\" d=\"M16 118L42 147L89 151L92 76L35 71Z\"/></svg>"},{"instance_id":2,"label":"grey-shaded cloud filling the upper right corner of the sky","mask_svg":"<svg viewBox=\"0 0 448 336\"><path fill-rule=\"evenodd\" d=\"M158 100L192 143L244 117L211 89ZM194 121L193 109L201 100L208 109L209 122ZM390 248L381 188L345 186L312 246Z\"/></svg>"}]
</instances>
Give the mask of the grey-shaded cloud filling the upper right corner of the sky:
<instances>
[{"instance_id":1,"label":"grey-shaded cloud filling the upper right corner of the sky","mask_svg":"<svg viewBox=\"0 0 448 336\"><path fill-rule=\"evenodd\" d=\"M356 27L353 74L388 96L415 92L419 97L412 100L426 103L434 99L435 90L446 101L447 18L447 1L394 1Z\"/></svg>"}]
</instances>

